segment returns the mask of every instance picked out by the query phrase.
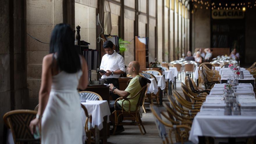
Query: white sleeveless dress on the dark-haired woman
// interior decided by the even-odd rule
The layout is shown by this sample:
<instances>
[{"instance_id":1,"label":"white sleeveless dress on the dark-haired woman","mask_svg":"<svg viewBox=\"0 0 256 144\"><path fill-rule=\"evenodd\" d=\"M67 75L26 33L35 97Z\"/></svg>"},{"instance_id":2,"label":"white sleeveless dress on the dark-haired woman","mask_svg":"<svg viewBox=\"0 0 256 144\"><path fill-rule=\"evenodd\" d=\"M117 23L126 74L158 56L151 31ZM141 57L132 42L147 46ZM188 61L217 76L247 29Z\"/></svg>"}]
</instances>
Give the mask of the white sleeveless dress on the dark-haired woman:
<instances>
[{"instance_id":1,"label":"white sleeveless dress on the dark-haired woman","mask_svg":"<svg viewBox=\"0 0 256 144\"><path fill-rule=\"evenodd\" d=\"M77 86L82 71L61 71L52 77L49 100L42 117L41 143L82 144L83 126Z\"/></svg>"}]
</instances>

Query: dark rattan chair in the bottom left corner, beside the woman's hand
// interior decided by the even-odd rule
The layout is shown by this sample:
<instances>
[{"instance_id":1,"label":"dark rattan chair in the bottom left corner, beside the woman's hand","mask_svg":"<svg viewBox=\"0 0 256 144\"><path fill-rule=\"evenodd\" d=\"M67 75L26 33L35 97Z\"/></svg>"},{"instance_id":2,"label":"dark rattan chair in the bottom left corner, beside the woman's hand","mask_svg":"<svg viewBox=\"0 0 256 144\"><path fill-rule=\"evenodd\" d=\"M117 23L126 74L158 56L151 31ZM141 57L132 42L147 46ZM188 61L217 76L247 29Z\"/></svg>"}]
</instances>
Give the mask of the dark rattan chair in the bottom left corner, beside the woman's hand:
<instances>
[{"instance_id":1,"label":"dark rattan chair in the bottom left corner, beside the woman's hand","mask_svg":"<svg viewBox=\"0 0 256 144\"><path fill-rule=\"evenodd\" d=\"M29 129L31 120L35 119L37 111L14 110L3 115L5 125L11 129L15 144L20 143L40 143L40 139L35 139Z\"/></svg>"}]
</instances>

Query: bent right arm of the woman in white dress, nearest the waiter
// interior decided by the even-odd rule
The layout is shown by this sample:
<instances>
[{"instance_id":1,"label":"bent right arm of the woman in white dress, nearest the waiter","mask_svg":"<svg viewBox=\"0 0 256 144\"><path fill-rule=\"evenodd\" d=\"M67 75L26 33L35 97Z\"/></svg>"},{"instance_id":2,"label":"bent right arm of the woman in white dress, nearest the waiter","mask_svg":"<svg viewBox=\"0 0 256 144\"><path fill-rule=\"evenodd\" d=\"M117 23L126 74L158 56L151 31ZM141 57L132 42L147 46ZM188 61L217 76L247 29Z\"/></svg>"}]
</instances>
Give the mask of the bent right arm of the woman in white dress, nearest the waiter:
<instances>
[{"instance_id":1,"label":"bent right arm of the woman in white dress, nearest the waiter","mask_svg":"<svg viewBox=\"0 0 256 144\"><path fill-rule=\"evenodd\" d=\"M87 67L87 64L86 64L86 61L85 61L84 57L82 57L82 67L81 67L81 69L82 69L83 74L80 77L78 88L81 89L81 90L85 90L86 87L89 84L89 80L88 80L88 67Z\"/></svg>"}]
</instances>

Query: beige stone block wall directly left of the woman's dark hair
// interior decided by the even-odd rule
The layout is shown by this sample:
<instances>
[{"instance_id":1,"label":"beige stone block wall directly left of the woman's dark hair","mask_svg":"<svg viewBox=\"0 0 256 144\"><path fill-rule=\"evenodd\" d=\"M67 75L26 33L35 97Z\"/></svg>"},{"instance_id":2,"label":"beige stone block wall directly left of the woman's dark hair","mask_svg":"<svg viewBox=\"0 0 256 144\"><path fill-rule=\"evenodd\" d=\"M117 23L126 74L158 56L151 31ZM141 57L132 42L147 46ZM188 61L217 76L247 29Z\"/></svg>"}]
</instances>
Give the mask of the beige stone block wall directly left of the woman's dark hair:
<instances>
[{"instance_id":1,"label":"beige stone block wall directly left of the woman's dark hair","mask_svg":"<svg viewBox=\"0 0 256 144\"><path fill-rule=\"evenodd\" d=\"M27 33L42 42L49 43L54 26L63 22L62 0L27 0L26 7ZM43 44L27 36L27 84L30 109L34 109L38 104L42 59L47 54L49 54L49 44Z\"/></svg>"}]
</instances>

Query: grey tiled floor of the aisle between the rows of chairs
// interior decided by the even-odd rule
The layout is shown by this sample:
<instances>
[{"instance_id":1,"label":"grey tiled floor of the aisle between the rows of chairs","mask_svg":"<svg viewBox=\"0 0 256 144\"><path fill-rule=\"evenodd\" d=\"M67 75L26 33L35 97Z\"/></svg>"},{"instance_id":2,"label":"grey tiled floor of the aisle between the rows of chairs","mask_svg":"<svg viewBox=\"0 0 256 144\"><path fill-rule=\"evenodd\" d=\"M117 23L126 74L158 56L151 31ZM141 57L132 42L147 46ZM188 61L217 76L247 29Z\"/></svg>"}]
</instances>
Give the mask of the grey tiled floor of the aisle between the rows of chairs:
<instances>
[{"instance_id":1,"label":"grey tiled floor of the aisle between the rows of chairs","mask_svg":"<svg viewBox=\"0 0 256 144\"><path fill-rule=\"evenodd\" d=\"M177 92L183 95L182 90L180 88L180 83L177 82ZM163 97L164 102L168 102L167 96ZM155 103L155 102L154 102ZM156 104L156 103L155 103ZM143 113L142 122L147 131L145 135L141 135L141 132L138 126L124 126L125 131L120 134L110 136L108 138L109 144L161 144L162 140L159 137L157 127L154 123L153 115L149 108L149 103L145 104L147 113ZM166 111L163 106L159 106L161 111ZM163 118L163 117L162 117ZM168 122L167 119L164 121ZM170 123L170 122L168 122ZM175 140L174 135L172 136L173 140Z\"/></svg>"}]
</instances>

